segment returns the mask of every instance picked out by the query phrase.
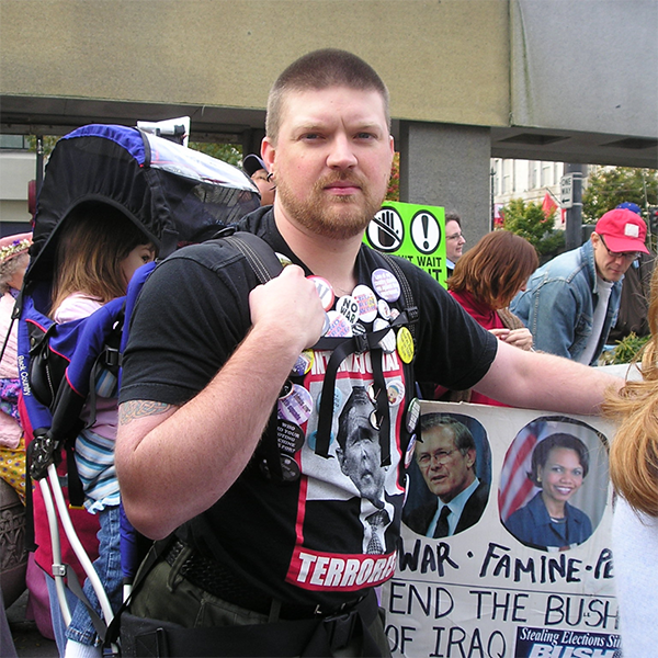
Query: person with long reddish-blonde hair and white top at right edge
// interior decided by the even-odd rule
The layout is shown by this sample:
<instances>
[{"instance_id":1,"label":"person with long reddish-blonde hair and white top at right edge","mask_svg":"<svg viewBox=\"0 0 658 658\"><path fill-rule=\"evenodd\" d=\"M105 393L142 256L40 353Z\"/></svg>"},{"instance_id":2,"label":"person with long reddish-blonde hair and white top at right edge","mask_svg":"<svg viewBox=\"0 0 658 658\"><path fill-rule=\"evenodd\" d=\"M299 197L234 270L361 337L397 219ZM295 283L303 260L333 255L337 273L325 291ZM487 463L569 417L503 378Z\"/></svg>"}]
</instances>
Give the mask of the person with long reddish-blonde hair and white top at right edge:
<instances>
[{"instance_id":1,"label":"person with long reddish-blonde hair and white top at right edge","mask_svg":"<svg viewBox=\"0 0 658 658\"><path fill-rule=\"evenodd\" d=\"M642 379L626 382L603 407L620 421L610 477L620 495L612 547L624 658L653 656L658 646L658 270L648 320L651 338L642 353Z\"/></svg>"}]
</instances>

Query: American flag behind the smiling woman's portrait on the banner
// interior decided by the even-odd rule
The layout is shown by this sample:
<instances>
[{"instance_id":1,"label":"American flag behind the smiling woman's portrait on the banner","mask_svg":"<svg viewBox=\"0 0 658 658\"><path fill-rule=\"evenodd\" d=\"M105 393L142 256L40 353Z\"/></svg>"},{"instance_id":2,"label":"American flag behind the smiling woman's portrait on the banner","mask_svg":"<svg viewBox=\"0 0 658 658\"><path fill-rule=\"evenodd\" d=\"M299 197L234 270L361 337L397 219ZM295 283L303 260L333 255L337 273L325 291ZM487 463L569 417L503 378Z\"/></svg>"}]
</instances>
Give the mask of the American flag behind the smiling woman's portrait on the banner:
<instances>
[{"instance_id":1,"label":"American flag behind the smiling woman's portrait on the banner","mask_svg":"<svg viewBox=\"0 0 658 658\"><path fill-rule=\"evenodd\" d=\"M549 431L549 433L552 433ZM534 446L546 435L544 421L527 424L508 451L500 473L498 509L503 523L534 496L536 487L527 479Z\"/></svg>"}]
</instances>

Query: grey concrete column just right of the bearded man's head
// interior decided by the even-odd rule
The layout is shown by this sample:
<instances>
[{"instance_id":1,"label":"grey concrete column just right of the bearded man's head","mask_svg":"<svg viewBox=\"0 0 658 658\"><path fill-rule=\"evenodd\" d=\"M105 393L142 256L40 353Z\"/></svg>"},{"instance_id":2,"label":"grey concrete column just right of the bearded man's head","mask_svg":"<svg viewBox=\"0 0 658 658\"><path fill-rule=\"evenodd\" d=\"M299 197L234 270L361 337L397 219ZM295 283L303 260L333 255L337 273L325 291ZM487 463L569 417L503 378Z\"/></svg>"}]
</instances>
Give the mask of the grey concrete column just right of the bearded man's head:
<instances>
[{"instance_id":1,"label":"grey concrete column just right of the bearded man's head","mask_svg":"<svg viewBox=\"0 0 658 658\"><path fill-rule=\"evenodd\" d=\"M489 128L400 122L400 201L462 218L465 249L491 230Z\"/></svg>"}]
</instances>

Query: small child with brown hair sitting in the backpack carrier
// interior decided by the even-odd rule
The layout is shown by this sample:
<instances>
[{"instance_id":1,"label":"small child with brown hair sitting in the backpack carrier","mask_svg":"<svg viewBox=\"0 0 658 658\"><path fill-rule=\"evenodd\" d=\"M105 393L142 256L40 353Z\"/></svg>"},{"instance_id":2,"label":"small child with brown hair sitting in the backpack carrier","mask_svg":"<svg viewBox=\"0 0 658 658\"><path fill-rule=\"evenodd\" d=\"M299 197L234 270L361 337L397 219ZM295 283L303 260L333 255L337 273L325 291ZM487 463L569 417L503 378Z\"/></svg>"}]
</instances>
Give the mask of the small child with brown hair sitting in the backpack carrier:
<instances>
[{"instance_id":1,"label":"small child with brown hair sitting in the backpack carrier","mask_svg":"<svg viewBox=\"0 0 658 658\"><path fill-rule=\"evenodd\" d=\"M146 236L118 209L84 204L72 211L63 227L55 263L50 316L56 322L88 317L113 298L126 294L137 268L155 258ZM110 373L98 378L95 410L87 405L86 429L76 440L76 465L84 488L84 507L99 515L99 558L94 568L113 610L122 602L120 557L120 492L114 469L117 399ZM95 420L89 426L92 413ZM84 593L100 613L89 580ZM100 657L102 649L84 604L79 601L67 629L66 658Z\"/></svg>"}]
</instances>

